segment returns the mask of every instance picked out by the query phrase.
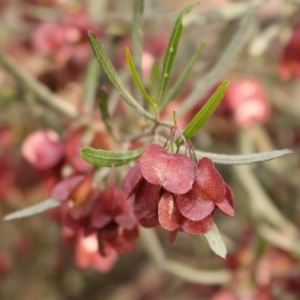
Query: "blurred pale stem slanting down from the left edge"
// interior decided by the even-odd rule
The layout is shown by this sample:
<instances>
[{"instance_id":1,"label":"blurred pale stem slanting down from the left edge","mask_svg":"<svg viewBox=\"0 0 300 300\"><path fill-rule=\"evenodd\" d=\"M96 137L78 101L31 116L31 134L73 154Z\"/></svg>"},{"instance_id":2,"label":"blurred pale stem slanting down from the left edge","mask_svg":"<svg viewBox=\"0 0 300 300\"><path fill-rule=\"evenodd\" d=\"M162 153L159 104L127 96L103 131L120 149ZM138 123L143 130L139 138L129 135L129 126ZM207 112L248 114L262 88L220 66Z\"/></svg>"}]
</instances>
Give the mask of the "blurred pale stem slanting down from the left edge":
<instances>
[{"instance_id":1,"label":"blurred pale stem slanting down from the left edge","mask_svg":"<svg viewBox=\"0 0 300 300\"><path fill-rule=\"evenodd\" d=\"M52 93L50 89L41 84L28 72L20 69L16 63L14 63L10 58L6 57L1 51L0 65L2 65L3 68L5 68L18 81L20 81L28 90L36 95L40 101L46 103L70 118L76 118L78 116L78 112L73 105L67 103L63 98Z\"/></svg>"}]
</instances>

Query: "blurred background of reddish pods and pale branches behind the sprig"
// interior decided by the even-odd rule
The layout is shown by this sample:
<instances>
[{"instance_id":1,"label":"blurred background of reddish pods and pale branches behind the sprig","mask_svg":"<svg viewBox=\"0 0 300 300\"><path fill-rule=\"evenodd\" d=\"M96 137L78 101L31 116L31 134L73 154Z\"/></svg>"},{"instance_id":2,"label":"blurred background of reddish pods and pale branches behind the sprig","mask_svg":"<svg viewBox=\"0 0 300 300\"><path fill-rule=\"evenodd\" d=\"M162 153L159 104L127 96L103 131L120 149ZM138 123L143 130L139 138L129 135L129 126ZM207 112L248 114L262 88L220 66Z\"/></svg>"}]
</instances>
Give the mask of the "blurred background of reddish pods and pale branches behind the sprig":
<instances>
[{"instance_id":1,"label":"blurred background of reddish pods and pale branches behind the sprig","mask_svg":"<svg viewBox=\"0 0 300 300\"><path fill-rule=\"evenodd\" d=\"M145 1L143 75L148 87L151 66L161 62L176 16L188 4ZM87 30L97 33L131 85L124 49L131 43L133 6L134 1L0 0L1 217L48 197L40 174L21 155L25 137L51 128L66 139L88 122L86 116L99 114ZM174 78L200 43L205 48L167 111L176 109L180 116L193 92L199 92L200 103L220 80L231 81L224 106L194 139L195 147L226 154L294 151L253 166L219 166L233 188L236 209L234 218L218 215L216 220L229 251L225 261L198 238L180 234L169 244L158 231L167 257L199 270L224 269L224 280L208 272L204 276L210 284L205 284L197 274L182 279L184 270L166 272L145 251L143 240L107 273L82 270L55 216L42 214L0 226L1 299L299 299L299 15L296 0L212 0L201 1L185 19ZM247 30L238 36L246 21ZM233 38L229 54L222 56ZM99 82L106 84L111 103L118 103L103 76L96 86ZM250 99L245 107L244 98ZM136 117L118 109L126 117L115 119L114 126L132 124L125 126L132 133ZM193 109L179 124L186 124Z\"/></svg>"}]
</instances>

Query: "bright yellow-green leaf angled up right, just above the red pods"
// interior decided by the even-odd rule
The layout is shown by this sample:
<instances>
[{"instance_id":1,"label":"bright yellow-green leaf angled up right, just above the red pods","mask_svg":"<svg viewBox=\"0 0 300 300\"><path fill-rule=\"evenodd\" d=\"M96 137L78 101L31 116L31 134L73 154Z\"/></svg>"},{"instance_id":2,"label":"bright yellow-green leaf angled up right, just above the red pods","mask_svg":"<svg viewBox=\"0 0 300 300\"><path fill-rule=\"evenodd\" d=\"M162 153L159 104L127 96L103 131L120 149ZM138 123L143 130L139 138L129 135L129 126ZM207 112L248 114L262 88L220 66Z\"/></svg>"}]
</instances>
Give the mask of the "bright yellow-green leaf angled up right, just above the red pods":
<instances>
[{"instance_id":1,"label":"bright yellow-green leaf angled up right, just above the red pods","mask_svg":"<svg viewBox=\"0 0 300 300\"><path fill-rule=\"evenodd\" d=\"M183 132L186 139L191 139L194 137L198 130L203 127L206 121L211 117L218 105L221 103L228 86L229 81L225 80L209 98L205 105L193 117Z\"/></svg>"}]
</instances>

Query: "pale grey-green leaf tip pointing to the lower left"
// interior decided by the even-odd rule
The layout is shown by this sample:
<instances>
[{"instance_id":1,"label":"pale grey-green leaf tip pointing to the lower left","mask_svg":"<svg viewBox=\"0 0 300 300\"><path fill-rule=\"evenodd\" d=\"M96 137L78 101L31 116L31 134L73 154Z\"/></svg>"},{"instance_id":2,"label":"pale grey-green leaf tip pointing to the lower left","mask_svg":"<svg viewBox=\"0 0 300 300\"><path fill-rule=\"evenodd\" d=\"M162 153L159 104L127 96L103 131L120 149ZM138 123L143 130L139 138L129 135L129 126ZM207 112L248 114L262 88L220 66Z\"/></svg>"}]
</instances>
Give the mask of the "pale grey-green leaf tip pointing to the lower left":
<instances>
[{"instance_id":1,"label":"pale grey-green leaf tip pointing to the lower left","mask_svg":"<svg viewBox=\"0 0 300 300\"><path fill-rule=\"evenodd\" d=\"M49 198L43 202L28 206L24 209L21 209L16 212L13 212L9 215L6 215L3 220L11 221L11 220L15 220L15 219L21 219L21 218L34 216L34 215L40 214L44 211L47 211L49 209L52 209L54 207L57 207L61 204L62 204L61 201Z\"/></svg>"}]
</instances>

